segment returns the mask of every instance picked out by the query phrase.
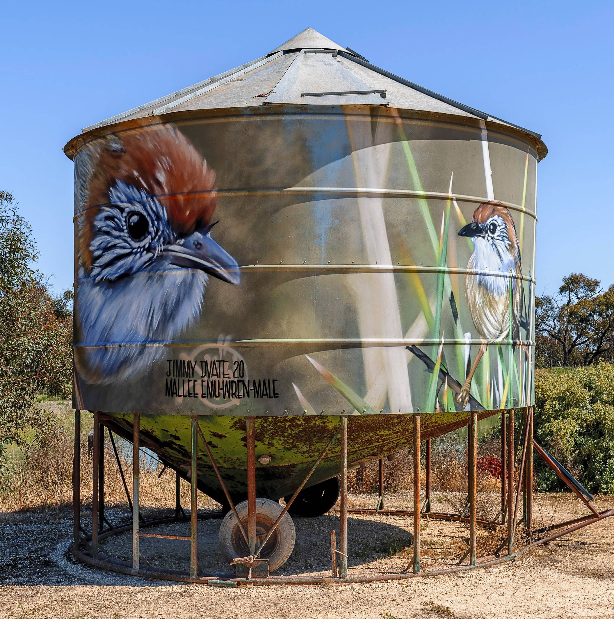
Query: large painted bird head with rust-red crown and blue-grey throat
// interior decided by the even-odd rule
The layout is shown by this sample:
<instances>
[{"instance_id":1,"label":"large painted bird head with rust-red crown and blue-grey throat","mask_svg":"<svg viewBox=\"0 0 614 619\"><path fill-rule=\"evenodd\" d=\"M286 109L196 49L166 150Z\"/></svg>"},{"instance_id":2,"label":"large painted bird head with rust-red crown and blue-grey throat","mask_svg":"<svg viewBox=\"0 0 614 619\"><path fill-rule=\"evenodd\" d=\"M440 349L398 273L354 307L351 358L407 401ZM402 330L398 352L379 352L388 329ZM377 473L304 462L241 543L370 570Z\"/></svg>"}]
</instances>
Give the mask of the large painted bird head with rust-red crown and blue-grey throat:
<instances>
[{"instance_id":1,"label":"large painted bird head with rust-red crown and blue-grey throat","mask_svg":"<svg viewBox=\"0 0 614 619\"><path fill-rule=\"evenodd\" d=\"M89 383L141 373L201 316L213 276L239 283L212 238L215 171L176 128L116 136L77 157L75 361Z\"/></svg>"}]
</instances>

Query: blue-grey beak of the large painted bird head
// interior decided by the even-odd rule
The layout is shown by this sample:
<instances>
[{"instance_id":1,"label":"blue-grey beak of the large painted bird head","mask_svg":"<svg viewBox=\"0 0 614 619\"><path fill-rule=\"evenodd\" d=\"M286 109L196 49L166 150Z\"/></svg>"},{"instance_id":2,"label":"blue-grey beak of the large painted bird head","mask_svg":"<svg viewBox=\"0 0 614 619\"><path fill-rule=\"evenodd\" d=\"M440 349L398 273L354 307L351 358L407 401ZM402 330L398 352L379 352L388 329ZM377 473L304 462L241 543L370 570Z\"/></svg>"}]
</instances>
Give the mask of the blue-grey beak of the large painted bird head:
<instances>
[{"instance_id":1,"label":"blue-grey beak of the large painted bird head","mask_svg":"<svg viewBox=\"0 0 614 619\"><path fill-rule=\"evenodd\" d=\"M163 254L175 266L201 269L229 284L239 284L239 266L236 260L211 238L211 228L212 226L207 226L196 230L164 248Z\"/></svg>"}]
</instances>

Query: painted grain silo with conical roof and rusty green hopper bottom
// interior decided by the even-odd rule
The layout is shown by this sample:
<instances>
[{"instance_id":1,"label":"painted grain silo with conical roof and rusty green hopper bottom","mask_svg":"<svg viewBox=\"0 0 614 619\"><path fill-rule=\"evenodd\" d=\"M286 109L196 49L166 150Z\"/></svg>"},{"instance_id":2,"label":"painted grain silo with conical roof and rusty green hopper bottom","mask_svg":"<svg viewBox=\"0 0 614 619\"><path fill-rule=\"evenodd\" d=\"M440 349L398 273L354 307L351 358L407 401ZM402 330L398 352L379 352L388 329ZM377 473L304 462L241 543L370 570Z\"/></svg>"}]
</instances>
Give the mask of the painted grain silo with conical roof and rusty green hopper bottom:
<instances>
[{"instance_id":1,"label":"painted grain silo with conical roof and rusty green hopper bottom","mask_svg":"<svg viewBox=\"0 0 614 619\"><path fill-rule=\"evenodd\" d=\"M74 407L235 520L532 405L538 134L307 28L65 152Z\"/></svg>"}]
</instances>

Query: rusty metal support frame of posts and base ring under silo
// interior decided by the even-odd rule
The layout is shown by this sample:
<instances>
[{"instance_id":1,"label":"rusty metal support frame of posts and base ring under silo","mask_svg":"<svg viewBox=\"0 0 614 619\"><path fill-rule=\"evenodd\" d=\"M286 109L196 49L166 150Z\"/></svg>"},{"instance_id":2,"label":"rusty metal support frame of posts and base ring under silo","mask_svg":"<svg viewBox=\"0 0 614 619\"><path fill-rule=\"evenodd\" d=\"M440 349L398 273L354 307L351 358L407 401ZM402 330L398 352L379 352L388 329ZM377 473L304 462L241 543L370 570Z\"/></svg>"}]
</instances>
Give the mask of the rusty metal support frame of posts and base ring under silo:
<instances>
[{"instance_id":1,"label":"rusty metal support frame of posts and base ring under silo","mask_svg":"<svg viewBox=\"0 0 614 619\"><path fill-rule=\"evenodd\" d=\"M470 423L469 423L469 508L470 513L469 517L463 517L459 515L453 514L439 514L439 513L430 513L429 517L441 517L443 519L449 519L452 521L462 521L469 522L470 524L470 548L468 551L469 555L469 565L457 566L455 568L439 568L432 569L431 571L421 572L420 571L420 415L413 415L413 467L414 467L414 496L413 503L414 509L410 510L386 510L386 509L348 509L347 508L347 466L348 466L348 433L347 433L347 418L342 417L340 420L340 426L335 432L334 436L332 436L331 440L327 444L326 448L314 465L311 467L306 478L301 483L301 486L295 491L295 495L293 495L292 499L288 501L286 508L292 503L292 500L298 495L301 488L303 488L314 472L316 467L320 464L326 452L331 448L332 443L335 441L337 436L340 435L340 477L341 477L341 508L340 508L340 552L337 551L335 547L335 535L331 535L331 561L332 568L335 569L335 563L337 560L337 554L339 554L339 563L340 568L338 571L339 582L370 582L370 581L378 581L378 580L391 580L391 579L406 579L412 578L414 576L435 576L438 574L450 574L458 571L465 571L467 569L472 569L475 567L486 567L499 565L501 563L505 563L506 561L513 560L519 556L524 555L525 552L529 551L530 548L541 545L543 543L550 542L553 539L558 537L562 537L563 535L574 532L575 530L581 529L582 527L589 526L594 522L598 522L604 518L614 516L614 509L610 509L603 512L598 512L589 501L581 496L582 500L589 506L592 510L592 514L589 516L581 516L576 519L560 522L558 524L551 525L549 527L543 527L543 529L538 529L532 531L532 538L534 541L530 541L527 547L522 550L513 552L513 542L514 542L514 526L516 524L516 518L514 515L517 513L519 509L519 493L521 489L524 492L524 513L525 513L525 524L530 523L530 509L532 507L532 447L535 446L536 451L544 457L544 460L550 465L553 470L566 482L571 490L574 490L577 495L581 495L581 492L578 488L573 487L573 483L571 483L564 472L558 468L557 463L551 461L548 458L547 452L545 452L537 443L532 439L533 436L533 410L529 407L525 409L524 412L524 420L522 424L521 435L519 436L518 443L524 444L524 449L522 453L522 459L520 463L520 474L519 474L519 483L517 485L517 494L516 494L516 503L514 504L514 464L516 460L516 451L519 445L516 445L516 441L514 440L514 412L508 411L507 415L507 423L504 428L506 433L506 449L504 449L503 453L506 456L506 468L503 470L503 479L506 480L506 498L505 498L505 508L507 512L507 522L506 525L508 527L508 539L506 542L508 544L508 554L504 556L499 556L497 554L498 551L495 552L495 555L489 555L482 558L477 558L475 556L475 530L477 525L480 526L495 526L492 522L485 521L483 519L477 518L477 513L475 509L475 489L477 488L477 412L471 413ZM100 436L102 429L102 425L100 425L100 415L98 413L94 413L94 434L95 440L93 441L93 467L92 467L92 545L89 550L82 552L80 548L80 533L82 529L80 529L80 410L75 411L75 439L74 439L74 457L73 457L73 470L72 470L72 480L73 480L73 517L74 517L74 543L73 543L73 553L77 559L80 561L84 561L85 563L89 563L90 565L113 569L114 571L124 572L129 574L136 574L139 576L147 576L149 578L165 578L176 581L192 581L192 582L209 582L210 584L224 584L227 586L238 586L244 582L253 582L254 584L308 584L311 582L321 582L322 578L305 578L301 576L288 576L288 577L272 577L266 579L254 579L254 576L248 572L246 574L240 574L238 578L234 579L222 579L215 576L199 576L197 573L197 555L196 555L196 523L197 523L197 505L195 501L196 493L197 493L197 448L198 448L198 434L201 435L205 450L207 451L207 455L209 456L210 461L212 462L212 466L216 472L220 485L227 496L229 503L231 505L231 509L235 511L234 505L230 500L230 496L228 495L227 488L223 483L220 472L215 464L215 460L210 452L209 445L207 441L205 441L204 436L202 435L202 430L198 424L197 417L192 417L192 474L191 474L191 485L192 485L192 513L191 513L191 535L188 537L187 535L163 535L156 533L140 533L139 532L139 524L141 521L141 517L139 514L139 472L140 472L140 415L135 414L133 416L133 500L132 500L132 523L131 524L123 524L116 528L111 527L110 529L101 529L103 513L100 511L100 503L102 502L102 498L100 496L101 490L101 476L103 475L103 465L101 466L101 452L104 445L103 439ZM246 433L248 438L248 452L255 456L255 428L254 422L255 419L251 418L249 423L246 425ZM97 423L98 422L98 423ZM250 427L251 425L251 427ZM111 444L114 444L113 435L110 433ZM521 441L522 439L522 441ZM251 443L251 446L250 446ZM116 450L115 450L116 451ZM428 443L427 443L427 471L428 464L430 464L428 458ZM255 480L255 457L253 460L253 466L251 467L251 473L248 470L248 476ZM121 468L121 467L120 467ZM250 467L248 467L249 469ZM174 517L166 517L157 520L151 520L147 522L143 522L142 526L153 526L155 524L162 524L163 522L177 522L179 520L179 513L183 513L183 509L181 509L181 505L179 503L179 477L176 477L176 506L175 506L175 516ZM124 480L125 482L125 480ZM125 486L125 484L124 484ZM382 503L383 503L383 489L381 489ZM254 485L254 496L255 496L255 485ZM254 499L255 501L255 499ZM512 511L513 506L513 511ZM403 573L400 574L378 574L376 576L352 576L350 578L347 574L347 513L376 513L379 515L413 515L413 530L414 530L414 538L413 538L413 560L410 565L413 564L413 573ZM275 522L272 530L274 530L275 526L279 524L281 517L285 514L285 511L281 514L279 519ZM202 514L202 517L220 517L222 513L207 513ZM255 510L254 510L255 517ZM241 524L241 523L240 523ZM530 524L527 524L530 526ZM103 553L100 552L100 541L105 539L106 537L118 534L124 531L128 531L132 529L132 565L126 563L125 561L118 561L113 558L110 558ZM511 529L511 534L510 534ZM558 532L551 533L551 530L557 529ZM243 530L243 527L241 527ZM84 532L85 534L85 532ZM247 538L243 530L243 534ZM269 532L270 534L270 532ZM535 540L535 535L543 535L540 539ZM141 568L139 566L139 558L141 557L139 553L139 536L141 537L150 537L150 538L164 538L164 539L175 539L175 540L189 540L192 542L191 545L191 565L189 573L180 573L176 571L168 571L160 568L152 568L150 566L145 566L145 568ZM86 535L87 539L87 535ZM246 540L247 541L247 540ZM260 544L262 547L266 543L266 539ZM98 555L102 555L102 558L98 558ZM465 555L467 556L467 555ZM254 558L255 559L255 558ZM256 560L254 560L255 564ZM408 568L409 569L409 566Z\"/></svg>"}]
</instances>

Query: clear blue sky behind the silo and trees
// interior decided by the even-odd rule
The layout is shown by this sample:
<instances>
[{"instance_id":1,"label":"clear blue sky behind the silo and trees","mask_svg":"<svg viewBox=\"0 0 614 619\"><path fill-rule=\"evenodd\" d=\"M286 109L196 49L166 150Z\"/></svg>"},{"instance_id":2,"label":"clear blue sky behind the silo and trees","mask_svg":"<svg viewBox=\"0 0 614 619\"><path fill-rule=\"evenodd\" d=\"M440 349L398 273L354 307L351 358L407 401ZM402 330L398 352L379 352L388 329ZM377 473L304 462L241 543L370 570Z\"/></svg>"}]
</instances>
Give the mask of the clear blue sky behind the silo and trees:
<instances>
[{"instance_id":1,"label":"clear blue sky behind the silo and trees","mask_svg":"<svg viewBox=\"0 0 614 619\"><path fill-rule=\"evenodd\" d=\"M72 162L82 127L262 56L307 26L372 63L543 134L537 290L614 283L610 2L11 2L0 38L0 188L39 267L72 285Z\"/></svg>"}]
</instances>

